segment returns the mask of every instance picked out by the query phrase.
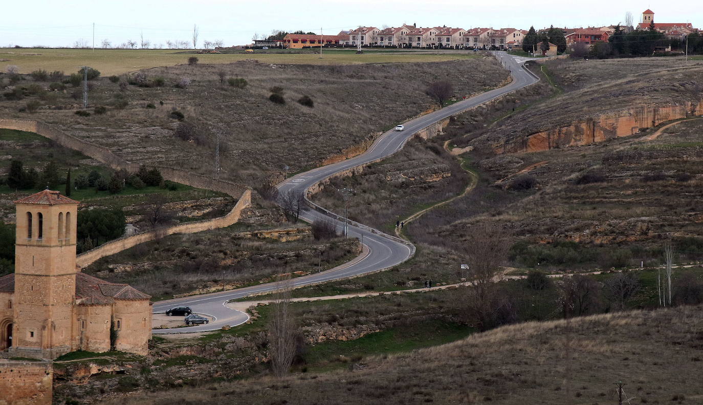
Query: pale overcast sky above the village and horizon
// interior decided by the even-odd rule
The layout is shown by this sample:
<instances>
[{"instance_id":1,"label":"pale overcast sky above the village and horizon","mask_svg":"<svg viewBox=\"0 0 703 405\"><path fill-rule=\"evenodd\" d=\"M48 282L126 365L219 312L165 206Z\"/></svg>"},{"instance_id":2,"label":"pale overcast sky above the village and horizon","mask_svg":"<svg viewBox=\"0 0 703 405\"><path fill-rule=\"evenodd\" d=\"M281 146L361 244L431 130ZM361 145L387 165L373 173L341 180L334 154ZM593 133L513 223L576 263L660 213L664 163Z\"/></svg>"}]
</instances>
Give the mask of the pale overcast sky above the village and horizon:
<instances>
[{"instance_id":1,"label":"pale overcast sky above the village and horizon","mask_svg":"<svg viewBox=\"0 0 703 405\"><path fill-rule=\"evenodd\" d=\"M529 4L529 7L525 7ZM640 22L646 8L659 23L692 23L703 28L699 0L642 2L589 0L560 2L476 0L32 0L3 1L0 46L73 46L83 40L113 46L140 34L152 44L191 41L198 25L198 46L221 39L225 46L249 44L254 33L304 30L337 34L359 25L382 27L417 23L418 27L515 27L549 25L587 27L623 23L625 13Z\"/></svg>"}]
</instances>

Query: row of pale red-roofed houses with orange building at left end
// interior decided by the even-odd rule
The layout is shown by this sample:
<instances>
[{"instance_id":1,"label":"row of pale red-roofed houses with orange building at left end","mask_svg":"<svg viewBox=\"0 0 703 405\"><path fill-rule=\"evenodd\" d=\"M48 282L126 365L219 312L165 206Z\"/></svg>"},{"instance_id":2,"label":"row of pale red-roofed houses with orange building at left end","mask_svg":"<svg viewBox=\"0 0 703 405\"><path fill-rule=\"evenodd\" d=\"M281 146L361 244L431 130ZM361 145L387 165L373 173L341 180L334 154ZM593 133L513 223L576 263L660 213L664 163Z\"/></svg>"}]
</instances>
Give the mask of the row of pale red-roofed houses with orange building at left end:
<instances>
[{"instance_id":1,"label":"row of pale red-roofed houses with orange building at left end","mask_svg":"<svg viewBox=\"0 0 703 405\"><path fill-rule=\"evenodd\" d=\"M285 48L308 46L389 46L396 48L433 49L512 49L522 46L527 31L515 28L473 28L465 30L453 27L415 27L402 25L380 29L359 27L342 31L337 35L288 34L280 45Z\"/></svg>"}]
</instances>

